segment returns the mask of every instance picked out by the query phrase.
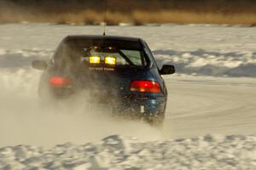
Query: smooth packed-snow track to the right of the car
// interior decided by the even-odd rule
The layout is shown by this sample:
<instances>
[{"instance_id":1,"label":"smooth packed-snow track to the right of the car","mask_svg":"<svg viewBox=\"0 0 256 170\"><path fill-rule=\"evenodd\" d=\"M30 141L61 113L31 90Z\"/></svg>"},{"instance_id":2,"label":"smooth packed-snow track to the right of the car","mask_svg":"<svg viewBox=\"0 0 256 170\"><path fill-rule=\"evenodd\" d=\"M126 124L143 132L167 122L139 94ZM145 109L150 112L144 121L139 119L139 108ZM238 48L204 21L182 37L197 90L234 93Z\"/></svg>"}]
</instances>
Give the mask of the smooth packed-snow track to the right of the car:
<instances>
[{"instance_id":1,"label":"smooth packed-snow track to the right of the car","mask_svg":"<svg viewBox=\"0 0 256 170\"><path fill-rule=\"evenodd\" d=\"M226 84L211 81L201 83L197 77L192 77L192 80L195 82L183 82L183 78L167 82L166 138L186 138L207 133L255 133L256 80L212 77L212 82L225 81ZM246 85L237 85L236 82L241 81L245 81Z\"/></svg>"}]
</instances>

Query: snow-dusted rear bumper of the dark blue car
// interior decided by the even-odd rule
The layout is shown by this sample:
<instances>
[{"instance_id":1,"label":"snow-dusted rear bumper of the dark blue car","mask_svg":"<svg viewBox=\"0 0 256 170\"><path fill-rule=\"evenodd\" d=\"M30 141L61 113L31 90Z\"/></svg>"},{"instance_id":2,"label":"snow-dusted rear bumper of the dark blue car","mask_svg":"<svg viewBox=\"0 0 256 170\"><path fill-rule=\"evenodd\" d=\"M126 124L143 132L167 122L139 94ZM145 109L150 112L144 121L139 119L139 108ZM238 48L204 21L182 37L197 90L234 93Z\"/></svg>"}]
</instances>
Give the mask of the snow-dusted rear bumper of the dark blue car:
<instances>
[{"instance_id":1,"label":"snow-dusted rear bumper of the dark blue car","mask_svg":"<svg viewBox=\"0 0 256 170\"><path fill-rule=\"evenodd\" d=\"M73 91L54 90L55 99L73 95ZM101 94L85 93L84 98L92 105L106 105L113 108L114 114L133 116L163 116L166 109L166 98L163 94Z\"/></svg>"}]
</instances>

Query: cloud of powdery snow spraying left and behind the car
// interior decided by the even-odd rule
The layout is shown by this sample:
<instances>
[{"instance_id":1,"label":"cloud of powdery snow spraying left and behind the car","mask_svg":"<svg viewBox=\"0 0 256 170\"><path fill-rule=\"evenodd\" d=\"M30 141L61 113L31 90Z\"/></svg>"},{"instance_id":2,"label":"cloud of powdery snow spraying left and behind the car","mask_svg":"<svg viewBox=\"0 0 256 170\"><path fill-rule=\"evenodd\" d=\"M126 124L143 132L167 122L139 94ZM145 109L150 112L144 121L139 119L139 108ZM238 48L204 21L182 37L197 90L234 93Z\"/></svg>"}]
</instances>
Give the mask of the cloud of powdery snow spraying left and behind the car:
<instances>
[{"instance_id":1,"label":"cloud of powdery snow spraying left and behind the car","mask_svg":"<svg viewBox=\"0 0 256 170\"><path fill-rule=\"evenodd\" d=\"M49 59L49 50L9 52L0 56L0 147L9 144L84 144L109 134L159 139L159 130L143 122L118 120L108 108L98 108L77 97L45 104L38 99L42 71L31 68L32 59ZM38 59L38 58L37 58Z\"/></svg>"}]
</instances>

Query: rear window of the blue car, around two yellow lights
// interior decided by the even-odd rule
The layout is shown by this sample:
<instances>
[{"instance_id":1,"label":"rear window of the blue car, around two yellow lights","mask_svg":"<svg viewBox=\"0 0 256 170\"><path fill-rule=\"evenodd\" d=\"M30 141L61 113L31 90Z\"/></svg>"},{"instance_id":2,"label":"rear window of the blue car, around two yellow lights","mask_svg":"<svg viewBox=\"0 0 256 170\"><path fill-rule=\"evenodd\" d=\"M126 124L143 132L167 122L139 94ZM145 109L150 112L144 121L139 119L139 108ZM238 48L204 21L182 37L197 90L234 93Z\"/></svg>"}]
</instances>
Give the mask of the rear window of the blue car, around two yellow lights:
<instances>
[{"instance_id":1,"label":"rear window of the blue car, around two yellow lights","mask_svg":"<svg viewBox=\"0 0 256 170\"><path fill-rule=\"evenodd\" d=\"M89 63L92 56L102 60L110 56L115 59L115 67L145 67L145 55L139 41L75 39L61 42L55 52L54 62L60 67L83 66Z\"/></svg>"}]
</instances>

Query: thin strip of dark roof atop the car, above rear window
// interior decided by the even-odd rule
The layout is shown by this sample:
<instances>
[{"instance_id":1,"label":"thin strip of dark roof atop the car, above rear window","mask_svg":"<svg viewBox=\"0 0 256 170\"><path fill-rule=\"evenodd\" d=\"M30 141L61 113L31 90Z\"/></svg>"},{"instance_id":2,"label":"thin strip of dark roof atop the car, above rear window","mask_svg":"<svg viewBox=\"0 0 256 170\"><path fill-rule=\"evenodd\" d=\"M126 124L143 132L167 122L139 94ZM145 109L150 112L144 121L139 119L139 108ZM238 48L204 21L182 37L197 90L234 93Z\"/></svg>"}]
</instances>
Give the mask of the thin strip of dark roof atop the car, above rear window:
<instances>
[{"instance_id":1,"label":"thin strip of dark roof atop the car, above rear window","mask_svg":"<svg viewBox=\"0 0 256 170\"><path fill-rule=\"evenodd\" d=\"M117 40L137 42L142 39L139 37L122 37L122 36L102 36L102 35L69 35L64 39L91 39L91 40Z\"/></svg>"}]
</instances>

